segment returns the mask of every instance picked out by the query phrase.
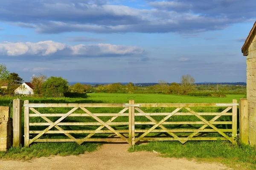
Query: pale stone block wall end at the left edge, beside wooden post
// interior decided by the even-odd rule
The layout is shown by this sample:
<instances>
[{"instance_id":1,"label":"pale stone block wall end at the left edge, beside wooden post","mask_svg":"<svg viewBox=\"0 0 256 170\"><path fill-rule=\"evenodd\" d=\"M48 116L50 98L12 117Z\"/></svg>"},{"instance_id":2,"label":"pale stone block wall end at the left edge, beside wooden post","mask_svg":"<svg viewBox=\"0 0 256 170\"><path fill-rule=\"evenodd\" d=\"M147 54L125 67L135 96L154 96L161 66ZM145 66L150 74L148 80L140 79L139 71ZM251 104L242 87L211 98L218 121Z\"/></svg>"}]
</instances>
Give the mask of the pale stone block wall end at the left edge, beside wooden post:
<instances>
[{"instance_id":1,"label":"pale stone block wall end at the left edge, beside wooden post","mask_svg":"<svg viewBox=\"0 0 256 170\"><path fill-rule=\"evenodd\" d=\"M10 146L12 146L10 107L0 106L0 151L6 151Z\"/></svg>"}]
</instances>

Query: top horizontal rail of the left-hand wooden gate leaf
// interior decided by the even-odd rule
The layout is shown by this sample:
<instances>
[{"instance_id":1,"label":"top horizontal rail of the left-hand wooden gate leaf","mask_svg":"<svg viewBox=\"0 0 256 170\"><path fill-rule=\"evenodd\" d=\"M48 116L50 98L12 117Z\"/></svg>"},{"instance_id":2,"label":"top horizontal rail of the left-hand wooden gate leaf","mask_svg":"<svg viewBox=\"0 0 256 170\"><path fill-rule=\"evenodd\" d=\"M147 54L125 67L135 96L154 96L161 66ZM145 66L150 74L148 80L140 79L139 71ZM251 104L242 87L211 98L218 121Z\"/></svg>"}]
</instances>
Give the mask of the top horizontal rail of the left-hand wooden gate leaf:
<instances>
[{"instance_id":1,"label":"top horizontal rail of the left-hand wooden gate leaf","mask_svg":"<svg viewBox=\"0 0 256 170\"><path fill-rule=\"evenodd\" d=\"M30 103L31 108L124 108L124 104L114 103Z\"/></svg>"}]
</instances>

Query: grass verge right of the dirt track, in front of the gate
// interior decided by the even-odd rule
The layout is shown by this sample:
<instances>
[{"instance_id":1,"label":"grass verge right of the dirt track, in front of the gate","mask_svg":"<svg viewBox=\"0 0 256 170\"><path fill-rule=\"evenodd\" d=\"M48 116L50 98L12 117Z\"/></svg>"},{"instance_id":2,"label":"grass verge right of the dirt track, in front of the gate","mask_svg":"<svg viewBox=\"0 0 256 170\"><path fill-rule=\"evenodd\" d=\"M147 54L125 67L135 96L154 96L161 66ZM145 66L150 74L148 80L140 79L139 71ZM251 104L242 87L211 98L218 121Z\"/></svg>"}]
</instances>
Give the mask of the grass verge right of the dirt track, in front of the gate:
<instances>
[{"instance_id":1,"label":"grass verge right of the dirt track, in front of the gate","mask_svg":"<svg viewBox=\"0 0 256 170\"><path fill-rule=\"evenodd\" d=\"M163 157L189 158L197 161L220 162L235 170L256 169L256 148L227 141L149 142L135 145L134 151L157 151Z\"/></svg>"}]
</instances>

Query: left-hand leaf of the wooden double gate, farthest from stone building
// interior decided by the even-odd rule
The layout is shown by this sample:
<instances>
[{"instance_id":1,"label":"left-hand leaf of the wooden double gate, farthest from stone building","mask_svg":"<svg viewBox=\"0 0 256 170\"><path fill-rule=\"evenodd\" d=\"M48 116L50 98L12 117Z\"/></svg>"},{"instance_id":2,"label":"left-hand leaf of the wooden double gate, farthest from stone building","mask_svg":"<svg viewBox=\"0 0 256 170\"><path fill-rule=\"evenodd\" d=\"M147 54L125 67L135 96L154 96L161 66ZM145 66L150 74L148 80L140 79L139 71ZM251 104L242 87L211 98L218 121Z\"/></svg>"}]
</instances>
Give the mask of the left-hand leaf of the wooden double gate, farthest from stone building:
<instances>
[{"instance_id":1,"label":"left-hand leaf of the wooden double gate, farthest from stone building","mask_svg":"<svg viewBox=\"0 0 256 170\"><path fill-rule=\"evenodd\" d=\"M127 122L112 122L114 119L116 119L119 116L129 116L128 113L124 113L128 110L128 107L126 104L29 104L29 101L24 101L24 137L25 137L25 146L29 146L29 144L32 144L32 142L77 142L78 144L81 144L83 142L128 142L129 139L127 139L124 135L121 133L129 133L129 130L114 130L110 125L125 125ZM66 108L72 108L67 113L40 113L35 108L43 108L43 107L66 107ZM91 113L84 107L122 107L122 111L119 113ZM85 113L73 113L76 111L76 109L80 108ZM29 114L29 110L34 112L33 114ZM61 122L67 117L70 116L90 116L93 119L95 119L97 122ZM57 121L52 122L47 118L47 116L51 117L61 117ZM113 116L111 119L109 119L107 122L102 121L98 118L98 116ZM47 123L35 123L35 122L29 122L29 117L41 117L44 120L47 121ZM29 126L49 126L45 130L29 130ZM96 130L63 130L60 125L101 125ZM50 130L52 127L56 127L58 130ZM107 127L108 130L101 130L102 128ZM29 134L32 133L38 133L37 136L35 136L33 139L29 139ZM47 133L63 133L66 136L68 136L70 139L38 139L42 135ZM88 136L86 136L84 139L76 139L70 133L90 133ZM120 137L120 139L91 139L90 137L93 136L96 133L114 133L117 136ZM131 142L130 142L131 143Z\"/></svg>"}]
</instances>

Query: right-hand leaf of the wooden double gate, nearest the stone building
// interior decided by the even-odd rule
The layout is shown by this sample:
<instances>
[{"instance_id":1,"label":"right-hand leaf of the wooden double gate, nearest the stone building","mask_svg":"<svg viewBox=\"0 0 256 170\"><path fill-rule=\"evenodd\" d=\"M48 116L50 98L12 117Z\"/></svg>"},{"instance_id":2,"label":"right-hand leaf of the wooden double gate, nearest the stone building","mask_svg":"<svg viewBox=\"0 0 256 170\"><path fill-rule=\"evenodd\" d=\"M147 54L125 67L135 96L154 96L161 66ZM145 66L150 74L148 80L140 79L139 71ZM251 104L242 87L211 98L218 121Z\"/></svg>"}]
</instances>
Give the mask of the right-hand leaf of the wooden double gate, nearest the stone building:
<instances>
[{"instance_id":1,"label":"right-hand leaf of the wooden double gate, nearest the stone building","mask_svg":"<svg viewBox=\"0 0 256 170\"><path fill-rule=\"evenodd\" d=\"M141 135L137 134L134 136L134 144L138 141L180 141L185 143L189 140L229 140L230 142L235 143L236 131L237 131L237 100L233 100L232 103L148 103L148 104L138 104L140 107L134 107L139 113L135 113L134 116L145 116L151 122L132 122L133 125L154 125L150 129L136 130L134 127L135 133L143 133ZM172 113L145 113L140 108L144 107L174 107L176 108ZM221 113L197 113L193 111L190 107L227 107ZM180 113L180 109L185 108L189 113ZM227 111L232 109L232 113L227 113ZM166 122L171 116L185 116L192 115L196 116L201 121L195 122ZM207 121L202 116L209 115L215 116L211 120ZM151 116L166 116L161 121L154 120ZM221 116L232 116L232 121L216 121ZM167 129L163 125L199 125L202 124L199 129ZM218 129L215 125L232 125L232 129ZM156 129L160 127L161 129ZM206 127L211 127L212 129L205 129ZM168 133L172 137L145 137L148 133ZM179 137L174 132L192 132L187 137ZM222 137L195 137L198 133L201 132L217 132L221 134ZM231 132L231 136L227 136L224 132Z\"/></svg>"}]
</instances>

